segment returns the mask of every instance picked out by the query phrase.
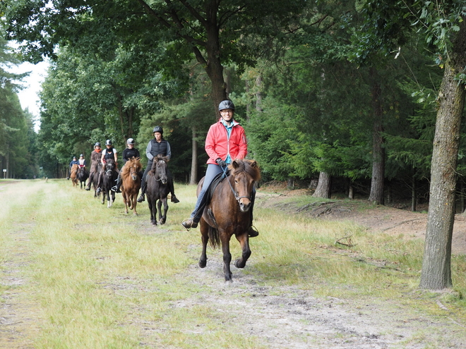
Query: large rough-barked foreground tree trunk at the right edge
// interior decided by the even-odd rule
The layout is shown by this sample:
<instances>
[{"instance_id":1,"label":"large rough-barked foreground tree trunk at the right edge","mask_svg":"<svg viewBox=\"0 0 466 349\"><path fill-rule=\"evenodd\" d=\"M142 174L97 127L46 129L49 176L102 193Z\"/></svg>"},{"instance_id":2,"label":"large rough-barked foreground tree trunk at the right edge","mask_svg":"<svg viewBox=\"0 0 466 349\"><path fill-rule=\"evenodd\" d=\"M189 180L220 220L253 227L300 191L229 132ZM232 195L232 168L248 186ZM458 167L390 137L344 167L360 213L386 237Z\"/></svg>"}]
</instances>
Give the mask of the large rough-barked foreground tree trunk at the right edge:
<instances>
[{"instance_id":1,"label":"large rough-barked foreground tree trunk at the right edge","mask_svg":"<svg viewBox=\"0 0 466 349\"><path fill-rule=\"evenodd\" d=\"M431 164L429 214L420 288L441 290L451 281L451 239L455 220L455 189L465 84L456 75L466 65L466 25L461 23L438 93L438 111Z\"/></svg>"}]
</instances>

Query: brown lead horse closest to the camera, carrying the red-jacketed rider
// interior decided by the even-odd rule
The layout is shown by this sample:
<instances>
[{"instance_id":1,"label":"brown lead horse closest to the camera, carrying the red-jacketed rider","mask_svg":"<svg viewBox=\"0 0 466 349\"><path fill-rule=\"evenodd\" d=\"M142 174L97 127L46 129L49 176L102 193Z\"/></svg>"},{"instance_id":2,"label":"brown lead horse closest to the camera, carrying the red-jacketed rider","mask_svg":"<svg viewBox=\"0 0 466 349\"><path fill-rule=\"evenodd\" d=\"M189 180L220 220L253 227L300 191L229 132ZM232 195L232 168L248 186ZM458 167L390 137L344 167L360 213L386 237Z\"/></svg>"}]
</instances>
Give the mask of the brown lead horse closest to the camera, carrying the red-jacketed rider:
<instances>
[{"instance_id":1,"label":"brown lead horse closest to the camera, carrying the red-jacketed rider","mask_svg":"<svg viewBox=\"0 0 466 349\"><path fill-rule=\"evenodd\" d=\"M229 264L232 255L229 252L229 240L235 235L241 245L242 255L234 261L237 268L244 268L251 255L248 231L251 226L252 198L254 183L261 179L261 171L253 160L235 160L229 165L229 175L222 180L212 193L210 203L204 208L201 221L202 254L199 267L207 264L205 250L210 241L212 247L222 244L223 274L225 281L232 280ZM203 179L198 184L198 195ZM207 194L206 194L207 195Z\"/></svg>"}]
</instances>

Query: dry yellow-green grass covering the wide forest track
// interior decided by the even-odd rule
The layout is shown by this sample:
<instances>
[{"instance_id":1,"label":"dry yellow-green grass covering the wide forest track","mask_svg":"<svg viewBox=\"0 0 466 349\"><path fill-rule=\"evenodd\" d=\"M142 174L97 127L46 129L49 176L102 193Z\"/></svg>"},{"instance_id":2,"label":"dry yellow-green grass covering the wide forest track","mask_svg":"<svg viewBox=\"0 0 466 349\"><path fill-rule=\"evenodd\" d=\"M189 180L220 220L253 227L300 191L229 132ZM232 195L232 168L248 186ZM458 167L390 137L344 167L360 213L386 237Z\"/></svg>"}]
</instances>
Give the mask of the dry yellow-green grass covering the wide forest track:
<instances>
[{"instance_id":1,"label":"dry yellow-green grass covering the wide forest track","mask_svg":"<svg viewBox=\"0 0 466 349\"><path fill-rule=\"evenodd\" d=\"M34 348L268 348L239 331L239 314L203 304L205 295L221 293L215 285L193 282L201 275L198 267L190 269L201 254L201 238L180 222L193 209L195 186L177 186L181 202L169 204L167 224L160 227L150 224L146 202L138 204L139 216L126 216L120 195L108 209L66 180L0 185L8 202L0 212L1 270L20 252L30 281L1 283L0 295L14 288L37 307ZM293 200L299 206L315 202L305 195ZM420 240L276 209L257 208L254 216L261 235L251 239L253 254L242 272L272 293L292 286L355 304L369 297L439 317L440 300L455 318L466 318L465 256L453 256L455 292L429 293L417 289ZM18 240L18 231L28 231L27 239ZM352 247L335 244L345 236ZM238 256L239 244L232 242L231 250ZM187 299L196 304L183 306Z\"/></svg>"}]
</instances>

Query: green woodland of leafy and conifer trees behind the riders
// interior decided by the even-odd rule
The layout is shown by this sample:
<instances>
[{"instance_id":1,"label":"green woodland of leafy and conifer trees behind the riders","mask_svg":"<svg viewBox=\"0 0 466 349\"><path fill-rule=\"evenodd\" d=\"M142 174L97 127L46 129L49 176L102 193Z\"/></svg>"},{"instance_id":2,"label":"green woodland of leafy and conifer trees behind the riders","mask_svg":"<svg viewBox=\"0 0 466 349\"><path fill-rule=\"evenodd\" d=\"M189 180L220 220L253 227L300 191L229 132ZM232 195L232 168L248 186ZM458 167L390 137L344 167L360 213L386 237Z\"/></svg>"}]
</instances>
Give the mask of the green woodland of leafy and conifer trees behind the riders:
<instances>
[{"instance_id":1,"label":"green woodland of leafy and conifer trees behind the riders","mask_svg":"<svg viewBox=\"0 0 466 349\"><path fill-rule=\"evenodd\" d=\"M7 178L63 178L106 139L121 154L133 137L143 154L162 125L175 180L196 183L215 106L229 98L264 182L412 198L413 210L429 200L443 49L462 1L6 0L0 11L0 67L52 62L38 133L20 77L0 68ZM461 212L464 154L462 142Z\"/></svg>"}]
</instances>

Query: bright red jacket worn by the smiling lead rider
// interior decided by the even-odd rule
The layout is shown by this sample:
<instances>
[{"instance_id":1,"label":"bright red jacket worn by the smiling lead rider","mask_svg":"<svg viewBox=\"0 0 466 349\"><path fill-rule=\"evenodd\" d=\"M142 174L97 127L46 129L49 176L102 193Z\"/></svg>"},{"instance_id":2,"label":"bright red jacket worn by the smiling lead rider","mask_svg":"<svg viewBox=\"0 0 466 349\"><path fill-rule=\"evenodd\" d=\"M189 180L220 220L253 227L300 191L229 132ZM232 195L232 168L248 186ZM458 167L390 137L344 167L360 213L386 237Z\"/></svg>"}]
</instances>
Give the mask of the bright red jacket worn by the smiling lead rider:
<instances>
[{"instance_id":1,"label":"bright red jacket worn by the smiling lead rider","mask_svg":"<svg viewBox=\"0 0 466 349\"><path fill-rule=\"evenodd\" d=\"M205 137L205 152L209 156L208 164L216 164L215 159L219 157L225 160L228 154L232 160L242 160L248 153L244 128L234 121L232 133L228 139L227 129L221 120L222 118L210 126L207 137Z\"/></svg>"}]
</instances>

